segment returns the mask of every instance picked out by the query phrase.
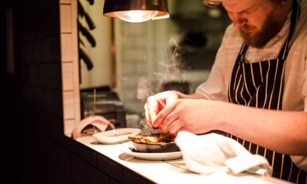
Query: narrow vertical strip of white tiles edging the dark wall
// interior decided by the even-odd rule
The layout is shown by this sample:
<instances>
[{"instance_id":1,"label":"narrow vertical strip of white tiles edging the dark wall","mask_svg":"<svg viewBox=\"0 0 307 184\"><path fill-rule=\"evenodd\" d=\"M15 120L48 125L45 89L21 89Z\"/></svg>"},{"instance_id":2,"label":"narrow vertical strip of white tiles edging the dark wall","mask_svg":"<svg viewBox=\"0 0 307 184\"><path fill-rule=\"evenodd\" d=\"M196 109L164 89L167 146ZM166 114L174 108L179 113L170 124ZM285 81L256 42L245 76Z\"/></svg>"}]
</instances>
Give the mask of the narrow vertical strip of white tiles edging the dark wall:
<instances>
[{"instance_id":1,"label":"narrow vertical strip of white tiles edging the dark wall","mask_svg":"<svg viewBox=\"0 0 307 184\"><path fill-rule=\"evenodd\" d=\"M80 122L77 0L60 0L64 134Z\"/></svg>"}]
</instances>

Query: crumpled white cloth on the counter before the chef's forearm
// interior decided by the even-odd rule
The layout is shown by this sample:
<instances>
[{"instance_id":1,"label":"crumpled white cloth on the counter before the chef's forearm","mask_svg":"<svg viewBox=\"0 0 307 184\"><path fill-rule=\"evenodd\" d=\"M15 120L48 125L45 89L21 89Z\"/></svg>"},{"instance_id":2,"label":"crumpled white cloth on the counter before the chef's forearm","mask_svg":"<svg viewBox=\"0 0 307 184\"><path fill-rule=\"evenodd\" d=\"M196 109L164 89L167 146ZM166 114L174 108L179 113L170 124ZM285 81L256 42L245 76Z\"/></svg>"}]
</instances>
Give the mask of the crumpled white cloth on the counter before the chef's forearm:
<instances>
[{"instance_id":1,"label":"crumpled white cloth on the counter before the chef's forearm","mask_svg":"<svg viewBox=\"0 0 307 184\"><path fill-rule=\"evenodd\" d=\"M265 157L250 153L239 142L215 133L195 135L181 131L175 143L182 151L182 158L192 172L211 174L231 170L238 174L249 172L272 175L272 168Z\"/></svg>"}]
</instances>

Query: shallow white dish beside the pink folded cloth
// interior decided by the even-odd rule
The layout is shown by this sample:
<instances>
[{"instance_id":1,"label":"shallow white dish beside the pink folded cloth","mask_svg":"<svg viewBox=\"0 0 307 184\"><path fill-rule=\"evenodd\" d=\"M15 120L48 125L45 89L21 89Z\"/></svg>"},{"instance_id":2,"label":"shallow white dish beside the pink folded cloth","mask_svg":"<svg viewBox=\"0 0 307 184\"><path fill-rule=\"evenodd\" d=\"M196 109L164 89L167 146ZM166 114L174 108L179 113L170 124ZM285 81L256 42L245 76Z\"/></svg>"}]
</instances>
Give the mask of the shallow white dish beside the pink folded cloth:
<instances>
[{"instance_id":1,"label":"shallow white dish beside the pink folded cloth","mask_svg":"<svg viewBox=\"0 0 307 184\"><path fill-rule=\"evenodd\" d=\"M125 142L130 140L128 136L135 136L140 134L141 129L137 128L120 128L108 130L105 132L100 132L93 134L93 137L104 144L116 144L120 142ZM124 134L124 135L123 135Z\"/></svg>"}]
</instances>

